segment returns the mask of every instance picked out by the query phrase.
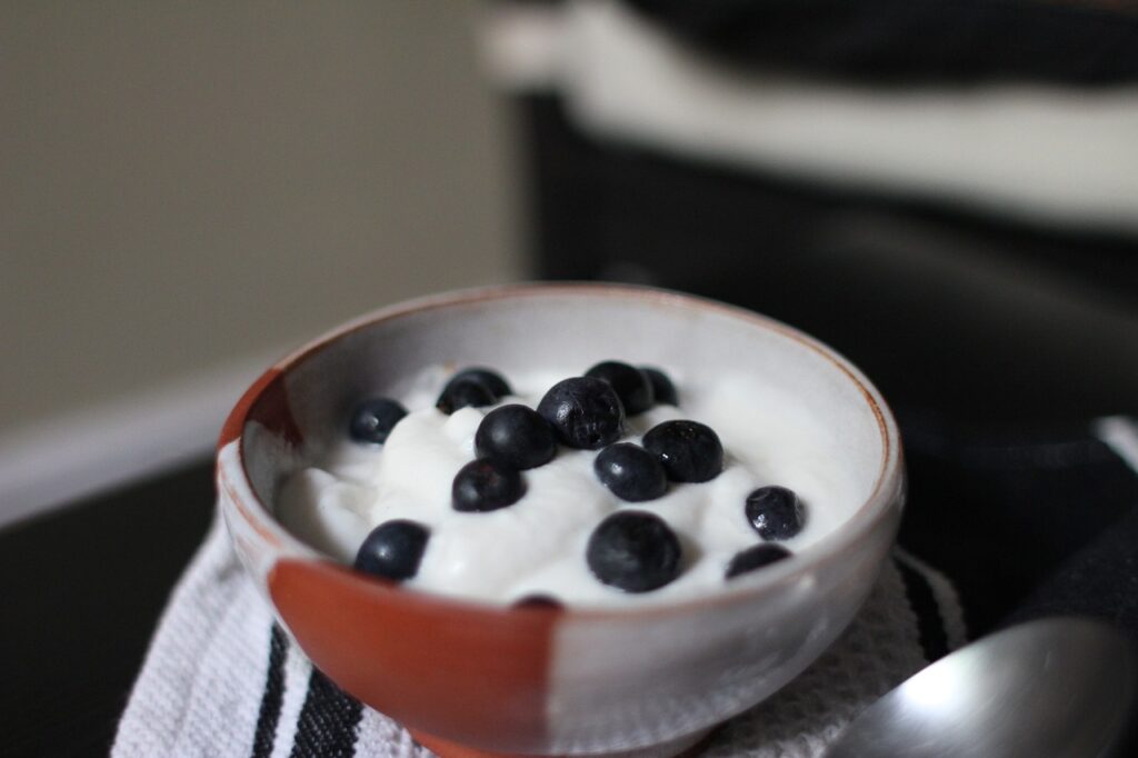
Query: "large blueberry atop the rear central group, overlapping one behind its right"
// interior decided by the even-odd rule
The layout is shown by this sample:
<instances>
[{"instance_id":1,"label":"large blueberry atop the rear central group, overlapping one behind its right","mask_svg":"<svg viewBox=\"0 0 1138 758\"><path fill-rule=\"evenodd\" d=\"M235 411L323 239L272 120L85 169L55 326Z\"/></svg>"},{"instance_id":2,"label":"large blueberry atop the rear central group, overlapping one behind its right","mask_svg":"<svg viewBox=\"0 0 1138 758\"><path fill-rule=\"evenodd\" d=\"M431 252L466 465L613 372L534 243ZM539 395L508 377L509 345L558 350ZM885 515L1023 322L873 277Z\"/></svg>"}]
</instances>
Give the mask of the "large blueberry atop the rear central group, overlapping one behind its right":
<instances>
[{"instance_id":1,"label":"large blueberry atop the rear central group, overlapping one behind its right","mask_svg":"<svg viewBox=\"0 0 1138 758\"><path fill-rule=\"evenodd\" d=\"M545 393L537 412L569 447L600 450L620 439L625 409L612 386L592 377L563 379Z\"/></svg>"}]
</instances>

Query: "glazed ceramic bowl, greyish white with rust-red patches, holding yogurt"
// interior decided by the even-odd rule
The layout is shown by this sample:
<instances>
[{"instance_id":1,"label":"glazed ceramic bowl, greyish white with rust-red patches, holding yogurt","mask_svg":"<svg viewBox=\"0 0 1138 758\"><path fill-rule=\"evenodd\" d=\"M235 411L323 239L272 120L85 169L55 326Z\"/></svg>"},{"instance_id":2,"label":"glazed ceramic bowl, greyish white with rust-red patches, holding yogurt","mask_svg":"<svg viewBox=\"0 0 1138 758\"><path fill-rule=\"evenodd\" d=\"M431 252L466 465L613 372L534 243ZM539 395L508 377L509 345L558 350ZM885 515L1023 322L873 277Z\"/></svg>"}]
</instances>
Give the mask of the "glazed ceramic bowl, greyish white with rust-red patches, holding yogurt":
<instances>
[{"instance_id":1,"label":"glazed ceramic bowl, greyish white with rust-red patches, holding yogurt","mask_svg":"<svg viewBox=\"0 0 1138 758\"><path fill-rule=\"evenodd\" d=\"M698 600L504 608L336 565L273 518L306 445L348 409L435 364L587 366L619 357L693 378L731 366L805 396L858 471L861 505L790 560ZM234 407L220 509L277 617L343 690L443 755L676 753L770 695L846 628L892 543L905 476L877 390L778 322L648 288L519 285L396 305L283 359Z\"/></svg>"}]
</instances>

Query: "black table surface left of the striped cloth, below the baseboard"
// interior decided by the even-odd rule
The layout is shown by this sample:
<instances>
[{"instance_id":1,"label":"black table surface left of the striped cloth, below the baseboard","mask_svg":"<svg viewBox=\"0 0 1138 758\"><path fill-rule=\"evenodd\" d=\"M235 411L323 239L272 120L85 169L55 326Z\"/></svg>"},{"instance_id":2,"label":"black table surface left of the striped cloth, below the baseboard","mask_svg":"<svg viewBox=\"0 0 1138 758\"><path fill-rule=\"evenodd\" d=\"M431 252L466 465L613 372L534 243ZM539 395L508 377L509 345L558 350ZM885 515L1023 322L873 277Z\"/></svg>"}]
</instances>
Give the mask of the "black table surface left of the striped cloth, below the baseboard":
<instances>
[{"instance_id":1,"label":"black table surface left of the striped cloth, below the baseboard","mask_svg":"<svg viewBox=\"0 0 1138 758\"><path fill-rule=\"evenodd\" d=\"M0 755L107 755L213 512L204 458L0 529Z\"/></svg>"}]
</instances>

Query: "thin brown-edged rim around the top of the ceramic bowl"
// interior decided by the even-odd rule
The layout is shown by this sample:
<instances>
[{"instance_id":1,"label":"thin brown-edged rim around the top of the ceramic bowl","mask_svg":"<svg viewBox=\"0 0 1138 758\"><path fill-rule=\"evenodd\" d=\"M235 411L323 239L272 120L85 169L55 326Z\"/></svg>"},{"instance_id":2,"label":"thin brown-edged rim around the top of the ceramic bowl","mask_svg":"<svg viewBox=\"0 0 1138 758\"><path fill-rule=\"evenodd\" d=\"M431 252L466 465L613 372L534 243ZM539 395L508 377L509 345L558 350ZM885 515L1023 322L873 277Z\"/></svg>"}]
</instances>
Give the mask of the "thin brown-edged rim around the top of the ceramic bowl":
<instances>
[{"instance_id":1,"label":"thin brown-edged rim around the top of the ceramic bowl","mask_svg":"<svg viewBox=\"0 0 1138 758\"><path fill-rule=\"evenodd\" d=\"M798 343L802 347L816 353L833 364L851 381L859 390L863 399L872 411L881 435L881 464L877 477L874 480L873 489L868 497L858 505L841 526L832 530L817 542L803 547L794 553L790 560L778 561L764 571L753 572L735 583L727 583L721 588L709 592L706 595L679 599L668 602L652 602L634 605L572 605L560 607L519 607L504 605L490 601L483 601L471 598L443 594L428 590L409 591L418 602L450 608L454 610L502 612L502 613L559 613L574 619L612 619L612 618L644 618L655 615L670 615L695 608L707 608L714 605L729 604L735 602L751 602L760 595L775 592L778 587L793 584L800 579L808 578L808 575L817 567L838 560L848 550L855 546L875 526L881 524L891 512L891 506L897 506L898 512L904 505L905 473L904 454L900 444L900 434L897 422L885 399L876 387L865 377L861 371L843 355L828 347L818 339L785 324L781 321L762 315L749 308L728 305L719 300L691 295L676 290L669 290L644 285L625 285L597 281L523 281L509 285L495 285L488 287L475 287L444 291L434 295L426 295L407 300L402 300L393 305L364 313L349 321L346 321L324 333L308 340L300 347L286 354L273 363L261 374L238 399L230 411L229 417L222 426L215 455L217 467L215 477L218 489L224 486L223 471L221 465L221 454L230 444L237 443L236 455L238 470L241 480L239 487L225 487L225 492L239 514L250 522L254 532L266 539L275 550L282 553L279 560L288 558L299 558L332 563L346 571L354 574L352 567L335 561L329 555L321 553L310 546L304 541L294 536L288 529L277 520L269 506L262 502L249 479L245 460L245 429L250 411L256 406L264 390L278 377L286 373L290 368L305 361L310 356L329 347L333 341L344 338L362 329L401 319L413 313L421 313L432 310L442 310L471 303L481 303L501 299L516 299L521 297L545 297L555 296L602 296L617 298L634 298L650 303L660 303L670 306L687 307L693 310L704 310L729 318L739 319L753 327L767 329L776 332L781 337ZM241 497L247 496L256 504L255 510L250 510L241 502ZM230 530L232 537L232 530ZM364 577L369 582L376 582L382 586L402 588L398 583L390 583L377 577Z\"/></svg>"}]
</instances>

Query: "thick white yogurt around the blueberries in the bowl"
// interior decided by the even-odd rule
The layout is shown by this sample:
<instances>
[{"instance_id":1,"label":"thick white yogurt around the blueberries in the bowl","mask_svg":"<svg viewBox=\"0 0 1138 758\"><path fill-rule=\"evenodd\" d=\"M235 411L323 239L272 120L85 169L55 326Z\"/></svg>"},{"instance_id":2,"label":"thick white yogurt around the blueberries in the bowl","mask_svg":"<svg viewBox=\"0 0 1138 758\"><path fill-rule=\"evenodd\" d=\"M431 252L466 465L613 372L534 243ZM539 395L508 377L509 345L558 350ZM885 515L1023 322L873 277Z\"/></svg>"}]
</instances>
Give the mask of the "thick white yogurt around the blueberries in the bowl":
<instances>
[{"instance_id":1,"label":"thick white yogurt around the blueberries in the bowl","mask_svg":"<svg viewBox=\"0 0 1138 758\"><path fill-rule=\"evenodd\" d=\"M575 605L674 601L724 586L727 563L761 538L744 514L747 496L781 485L798 493L806 525L781 544L801 550L839 528L859 504L851 464L835 432L803 398L744 376L686 384L678 371L679 407L657 405L626 420L624 442L638 443L653 426L692 419L723 442L724 470L702 484L670 483L658 500L628 503L596 478L596 451L559 447L545 465L522 472L526 494L513 505L464 513L451 506L454 475L475 458L475 431L493 407L467 407L452 415L435 409L448 373L431 369L401 402L410 413L379 445L354 443L345 434L308 468L281 487L277 514L298 537L351 563L376 526L410 519L430 529L419 572L406 586L469 599L509 603L526 595L553 595ZM545 390L567 372L509 376L516 395L498 405L536 407ZM599 582L585 561L593 529L618 510L661 517L679 537L679 576L648 593L626 593ZM761 571L761 569L759 569ZM732 582L745 582L741 576Z\"/></svg>"}]
</instances>

